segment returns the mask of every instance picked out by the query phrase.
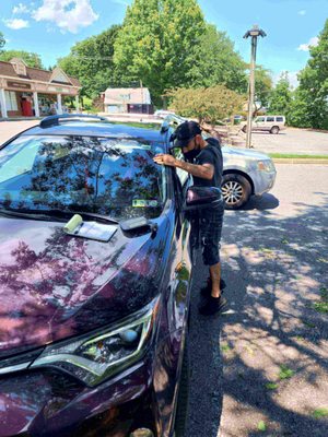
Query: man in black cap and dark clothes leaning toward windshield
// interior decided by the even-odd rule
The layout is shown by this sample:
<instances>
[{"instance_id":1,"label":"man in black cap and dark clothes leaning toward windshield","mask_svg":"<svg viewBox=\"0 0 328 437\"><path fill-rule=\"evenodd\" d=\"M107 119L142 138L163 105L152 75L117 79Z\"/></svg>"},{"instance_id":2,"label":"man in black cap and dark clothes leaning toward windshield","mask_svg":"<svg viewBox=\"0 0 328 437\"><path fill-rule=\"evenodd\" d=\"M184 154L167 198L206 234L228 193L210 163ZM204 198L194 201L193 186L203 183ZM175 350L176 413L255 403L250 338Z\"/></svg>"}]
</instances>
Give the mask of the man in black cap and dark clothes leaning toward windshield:
<instances>
[{"instance_id":1,"label":"man in black cap and dark clothes leaning toward windshield","mask_svg":"<svg viewBox=\"0 0 328 437\"><path fill-rule=\"evenodd\" d=\"M174 146L181 149L187 162L168 154L156 155L154 162L188 172L197 187L221 188L223 158L219 141L213 138L203 140L200 126L195 121L179 125L173 139ZM198 212L203 262L210 269L208 286L202 290L206 303L199 307L202 315L214 315L226 305L226 299L221 294L225 284L221 280L219 252L223 213L223 201L216 209L208 208Z\"/></svg>"}]
</instances>

